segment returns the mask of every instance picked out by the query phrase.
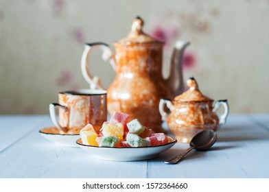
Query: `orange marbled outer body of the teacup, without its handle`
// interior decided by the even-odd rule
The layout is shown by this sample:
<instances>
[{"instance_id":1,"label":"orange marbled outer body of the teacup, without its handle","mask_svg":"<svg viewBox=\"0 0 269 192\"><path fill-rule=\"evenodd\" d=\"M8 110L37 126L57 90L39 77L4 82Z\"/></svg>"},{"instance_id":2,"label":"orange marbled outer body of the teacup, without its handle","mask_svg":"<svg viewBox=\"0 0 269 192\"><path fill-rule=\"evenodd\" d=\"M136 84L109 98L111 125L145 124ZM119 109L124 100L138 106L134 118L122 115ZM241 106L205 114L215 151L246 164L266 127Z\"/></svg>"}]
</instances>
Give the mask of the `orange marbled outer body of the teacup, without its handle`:
<instances>
[{"instance_id":1,"label":"orange marbled outer body of the teacup, without its handle","mask_svg":"<svg viewBox=\"0 0 269 192\"><path fill-rule=\"evenodd\" d=\"M99 132L102 123L107 120L106 95L60 93L59 104L68 108L68 110L59 109L60 125L69 130L65 134L79 134L80 130L88 123L91 123L95 131Z\"/></svg>"}]
</instances>

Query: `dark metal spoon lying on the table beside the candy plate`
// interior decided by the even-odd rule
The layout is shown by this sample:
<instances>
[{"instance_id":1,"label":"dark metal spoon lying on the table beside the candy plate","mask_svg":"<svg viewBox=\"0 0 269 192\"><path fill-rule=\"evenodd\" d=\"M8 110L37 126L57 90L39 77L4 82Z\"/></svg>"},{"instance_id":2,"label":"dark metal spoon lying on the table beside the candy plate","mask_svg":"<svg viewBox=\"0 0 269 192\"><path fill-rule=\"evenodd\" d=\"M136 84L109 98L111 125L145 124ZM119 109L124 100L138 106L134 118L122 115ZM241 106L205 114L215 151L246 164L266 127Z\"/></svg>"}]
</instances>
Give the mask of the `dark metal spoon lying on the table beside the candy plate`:
<instances>
[{"instance_id":1,"label":"dark metal spoon lying on the table beside the candy plate","mask_svg":"<svg viewBox=\"0 0 269 192\"><path fill-rule=\"evenodd\" d=\"M165 164L176 164L178 163L186 154L188 154L192 149L198 151L205 151L209 149L217 140L217 134L213 130L203 130L196 134L189 143L190 147L184 152L180 153L178 156L165 161Z\"/></svg>"}]
</instances>

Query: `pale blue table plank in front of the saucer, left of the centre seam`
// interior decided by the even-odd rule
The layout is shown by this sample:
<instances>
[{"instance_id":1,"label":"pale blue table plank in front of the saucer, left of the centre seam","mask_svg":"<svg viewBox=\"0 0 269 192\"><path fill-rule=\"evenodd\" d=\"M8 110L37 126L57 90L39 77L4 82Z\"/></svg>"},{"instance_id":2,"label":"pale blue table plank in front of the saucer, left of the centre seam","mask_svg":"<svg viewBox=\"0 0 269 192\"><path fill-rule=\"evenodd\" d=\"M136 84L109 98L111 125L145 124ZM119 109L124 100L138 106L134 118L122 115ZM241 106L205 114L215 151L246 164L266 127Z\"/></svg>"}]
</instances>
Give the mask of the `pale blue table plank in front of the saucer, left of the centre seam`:
<instances>
[{"instance_id":1,"label":"pale blue table plank in front of the saucer, left of the centre seam","mask_svg":"<svg viewBox=\"0 0 269 192\"><path fill-rule=\"evenodd\" d=\"M147 161L99 160L80 148L47 141L38 130L48 119L0 153L0 178L145 178Z\"/></svg>"}]
</instances>

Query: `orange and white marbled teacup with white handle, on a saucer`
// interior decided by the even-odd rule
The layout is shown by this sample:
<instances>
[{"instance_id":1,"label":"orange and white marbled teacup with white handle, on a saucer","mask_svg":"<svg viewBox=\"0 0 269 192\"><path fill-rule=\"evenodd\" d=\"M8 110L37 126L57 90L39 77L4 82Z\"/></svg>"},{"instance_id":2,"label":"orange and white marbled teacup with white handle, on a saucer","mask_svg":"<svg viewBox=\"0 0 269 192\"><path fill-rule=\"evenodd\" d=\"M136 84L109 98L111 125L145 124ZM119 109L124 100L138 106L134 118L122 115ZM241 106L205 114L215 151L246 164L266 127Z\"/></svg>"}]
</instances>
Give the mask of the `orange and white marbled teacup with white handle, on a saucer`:
<instances>
[{"instance_id":1,"label":"orange and white marbled teacup with white handle, on a saucer","mask_svg":"<svg viewBox=\"0 0 269 192\"><path fill-rule=\"evenodd\" d=\"M61 134L79 134L88 123L99 132L102 123L107 120L106 93L90 89L61 91L59 103L49 104L51 120ZM56 108L59 108L59 119Z\"/></svg>"}]
</instances>

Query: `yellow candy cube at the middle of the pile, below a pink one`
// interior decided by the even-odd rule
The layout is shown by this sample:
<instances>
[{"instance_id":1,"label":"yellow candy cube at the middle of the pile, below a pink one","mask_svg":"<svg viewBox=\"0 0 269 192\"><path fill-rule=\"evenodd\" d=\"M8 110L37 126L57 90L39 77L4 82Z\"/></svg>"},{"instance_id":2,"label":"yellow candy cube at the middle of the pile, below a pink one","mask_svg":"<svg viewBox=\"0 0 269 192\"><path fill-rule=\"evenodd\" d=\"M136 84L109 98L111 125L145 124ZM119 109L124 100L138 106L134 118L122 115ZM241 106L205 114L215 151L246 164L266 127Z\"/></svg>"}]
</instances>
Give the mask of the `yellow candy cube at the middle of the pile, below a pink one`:
<instances>
[{"instance_id":1,"label":"yellow candy cube at the middle of the pile, below a pink one","mask_svg":"<svg viewBox=\"0 0 269 192\"><path fill-rule=\"evenodd\" d=\"M122 123L105 124L102 127L102 134L104 136L117 136L122 141L124 139L124 125Z\"/></svg>"}]
</instances>

